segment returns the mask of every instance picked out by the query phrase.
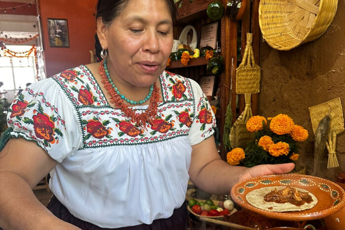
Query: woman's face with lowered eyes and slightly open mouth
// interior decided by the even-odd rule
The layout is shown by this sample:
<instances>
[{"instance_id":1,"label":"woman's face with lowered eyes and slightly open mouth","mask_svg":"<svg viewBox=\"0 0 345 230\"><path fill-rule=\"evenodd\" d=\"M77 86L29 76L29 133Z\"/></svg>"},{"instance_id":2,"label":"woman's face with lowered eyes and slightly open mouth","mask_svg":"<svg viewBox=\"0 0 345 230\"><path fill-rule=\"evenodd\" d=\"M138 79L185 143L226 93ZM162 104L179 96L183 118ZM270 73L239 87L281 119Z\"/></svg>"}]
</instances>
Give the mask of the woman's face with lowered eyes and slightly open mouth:
<instances>
[{"instance_id":1,"label":"woman's face with lowered eyes and slightly open mouth","mask_svg":"<svg viewBox=\"0 0 345 230\"><path fill-rule=\"evenodd\" d=\"M118 82L147 87L165 70L173 47L173 20L166 0L130 0L102 30L110 75Z\"/></svg>"}]
</instances>

